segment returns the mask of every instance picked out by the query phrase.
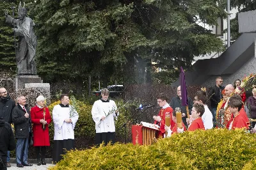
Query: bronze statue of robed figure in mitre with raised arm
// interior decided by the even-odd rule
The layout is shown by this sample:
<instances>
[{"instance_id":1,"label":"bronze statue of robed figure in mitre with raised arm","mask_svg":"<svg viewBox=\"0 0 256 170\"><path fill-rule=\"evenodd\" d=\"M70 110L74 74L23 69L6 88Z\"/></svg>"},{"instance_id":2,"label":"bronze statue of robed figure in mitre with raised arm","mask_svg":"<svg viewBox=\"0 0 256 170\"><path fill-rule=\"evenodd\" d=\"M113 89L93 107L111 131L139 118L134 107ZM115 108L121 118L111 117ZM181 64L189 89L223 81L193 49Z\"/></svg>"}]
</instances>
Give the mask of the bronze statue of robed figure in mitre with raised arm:
<instances>
[{"instance_id":1,"label":"bronze statue of robed figure in mitre with raised arm","mask_svg":"<svg viewBox=\"0 0 256 170\"><path fill-rule=\"evenodd\" d=\"M24 6L19 4L18 19L14 19L6 12L6 22L14 26L15 36L19 37L17 41L16 59L18 75L35 75L36 74L36 63L35 53L37 40L33 30L35 23L32 19L26 16L27 10Z\"/></svg>"}]
</instances>

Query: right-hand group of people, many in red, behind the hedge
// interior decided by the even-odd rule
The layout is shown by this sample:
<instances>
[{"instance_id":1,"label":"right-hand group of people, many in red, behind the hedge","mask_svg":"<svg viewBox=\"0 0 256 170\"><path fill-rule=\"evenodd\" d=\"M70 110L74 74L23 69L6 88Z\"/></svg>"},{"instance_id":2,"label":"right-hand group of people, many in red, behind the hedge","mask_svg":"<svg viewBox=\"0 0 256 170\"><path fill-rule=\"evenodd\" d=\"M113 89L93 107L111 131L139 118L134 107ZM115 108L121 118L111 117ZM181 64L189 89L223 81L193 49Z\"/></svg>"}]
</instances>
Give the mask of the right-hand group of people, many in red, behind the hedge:
<instances>
[{"instance_id":1,"label":"right-hand group of people, many in red, behind the hedge","mask_svg":"<svg viewBox=\"0 0 256 170\"><path fill-rule=\"evenodd\" d=\"M252 96L246 100L246 93L241 87L239 79L234 82L234 85L228 84L224 87L221 86L222 84L223 79L217 77L216 85L211 87L208 96L205 89L202 88L202 91L196 92L193 100L188 97L189 114L186 114L186 106L182 106L180 86L177 88L177 97L172 98L170 104L166 102L168 100L166 95L161 93L157 97L157 104L162 109L157 116L153 117L155 124L160 128L158 137L170 137L173 133L182 133L186 130L211 128L227 128L229 130L243 128L244 130L251 129L251 132L255 133L256 88L252 87ZM182 112L183 127L177 127L175 112L177 107ZM170 124L165 122L166 113L172 114Z\"/></svg>"}]
</instances>

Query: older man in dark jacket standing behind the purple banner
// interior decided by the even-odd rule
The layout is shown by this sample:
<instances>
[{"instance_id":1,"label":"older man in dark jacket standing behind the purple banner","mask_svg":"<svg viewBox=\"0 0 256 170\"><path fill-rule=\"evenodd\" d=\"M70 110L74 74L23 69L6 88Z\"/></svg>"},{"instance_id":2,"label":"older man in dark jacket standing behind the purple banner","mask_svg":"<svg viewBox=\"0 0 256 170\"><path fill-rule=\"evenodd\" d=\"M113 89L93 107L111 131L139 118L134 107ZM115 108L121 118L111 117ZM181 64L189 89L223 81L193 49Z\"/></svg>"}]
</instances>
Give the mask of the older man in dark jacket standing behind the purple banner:
<instances>
[{"instance_id":1,"label":"older man in dark jacket standing behind the purple banner","mask_svg":"<svg viewBox=\"0 0 256 170\"><path fill-rule=\"evenodd\" d=\"M176 107L179 107L181 112L182 112L182 121L184 123L184 125L186 125L186 127L188 127L186 118L188 118L187 115L187 109L186 106L181 106L181 91L180 91L180 86L177 88L177 97L173 97L171 102L170 102L170 107L173 108L173 110L175 111ZM189 113L192 111L193 108L193 101L190 97L188 97L188 110Z\"/></svg>"}]
</instances>

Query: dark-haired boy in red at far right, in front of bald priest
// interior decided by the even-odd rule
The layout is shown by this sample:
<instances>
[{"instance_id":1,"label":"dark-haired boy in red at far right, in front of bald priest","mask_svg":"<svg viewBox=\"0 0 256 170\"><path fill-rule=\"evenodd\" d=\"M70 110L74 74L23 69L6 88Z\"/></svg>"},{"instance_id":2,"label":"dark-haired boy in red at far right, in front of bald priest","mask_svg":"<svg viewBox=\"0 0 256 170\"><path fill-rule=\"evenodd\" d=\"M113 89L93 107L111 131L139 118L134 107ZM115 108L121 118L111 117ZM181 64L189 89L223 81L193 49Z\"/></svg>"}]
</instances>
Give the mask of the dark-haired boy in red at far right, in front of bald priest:
<instances>
[{"instance_id":1,"label":"dark-haired boy in red at far right, in front of bald priest","mask_svg":"<svg viewBox=\"0 0 256 170\"><path fill-rule=\"evenodd\" d=\"M237 99L231 100L229 102L229 105L230 105L229 110L233 114L233 118L230 121L230 123L228 123L228 129L229 130L232 130L235 128L249 129L243 114L239 113L239 111L243 106L242 100L237 100Z\"/></svg>"}]
</instances>

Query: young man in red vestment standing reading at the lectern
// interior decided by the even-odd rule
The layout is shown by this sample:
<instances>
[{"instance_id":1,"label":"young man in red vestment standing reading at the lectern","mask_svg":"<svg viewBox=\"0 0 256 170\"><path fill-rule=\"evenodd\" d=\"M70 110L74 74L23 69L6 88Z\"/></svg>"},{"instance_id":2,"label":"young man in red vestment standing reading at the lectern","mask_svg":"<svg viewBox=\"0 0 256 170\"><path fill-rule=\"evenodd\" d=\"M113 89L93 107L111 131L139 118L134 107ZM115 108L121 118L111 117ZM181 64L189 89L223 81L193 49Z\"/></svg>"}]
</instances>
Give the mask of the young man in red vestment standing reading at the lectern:
<instances>
[{"instance_id":1,"label":"young man in red vestment standing reading at the lectern","mask_svg":"<svg viewBox=\"0 0 256 170\"><path fill-rule=\"evenodd\" d=\"M162 109L159 111L158 115L153 116L153 118L155 120L154 124L159 125L159 127L160 127L159 134L157 134L158 137L164 137L164 134L165 134L164 126L165 126L165 124L171 125L171 126L173 125L172 118L170 118L170 122L168 122L168 123L165 122L165 115L169 114L170 116L172 116L172 112L173 112L173 109L172 109L172 107L170 107L167 100L168 100L168 98L164 93L161 93L157 97L157 104L160 107L162 107Z\"/></svg>"}]
</instances>

